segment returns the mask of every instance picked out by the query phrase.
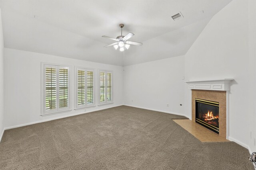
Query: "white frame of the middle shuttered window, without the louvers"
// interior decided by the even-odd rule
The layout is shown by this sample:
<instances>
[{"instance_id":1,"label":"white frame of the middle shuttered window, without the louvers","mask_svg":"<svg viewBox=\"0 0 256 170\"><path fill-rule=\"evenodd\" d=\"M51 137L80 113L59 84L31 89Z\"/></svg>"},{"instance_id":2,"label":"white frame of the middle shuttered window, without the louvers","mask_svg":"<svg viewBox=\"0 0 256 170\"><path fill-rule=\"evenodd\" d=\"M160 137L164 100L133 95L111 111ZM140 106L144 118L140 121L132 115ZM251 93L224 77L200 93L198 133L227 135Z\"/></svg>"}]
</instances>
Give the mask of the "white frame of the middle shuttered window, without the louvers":
<instances>
[{"instance_id":1,"label":"white frame of the middle shuttered window, without the louvers","mask_svg":"<svg viewBox=\"0 0 256 170\"><path fill-rule=\"evenodd\" d=\"M86 102L82 106L78 105L78 95L77 95L77 92L78 92L78 88L77 88L77 85L78 85L78 74L77 74L78 69L84 70L86 72L86 75L87 75L88 71L93 72L93 102L92 102L92 104L87 104L87 102ZM83 108L96 106L96 104L95 104L95 79L96 78L95 78L95 69L94 68L75 66L75 109L83 109ZM87 100L87 78L85 79L85 94L86 94L85 98Z\"/></svg>"}]
</instances>

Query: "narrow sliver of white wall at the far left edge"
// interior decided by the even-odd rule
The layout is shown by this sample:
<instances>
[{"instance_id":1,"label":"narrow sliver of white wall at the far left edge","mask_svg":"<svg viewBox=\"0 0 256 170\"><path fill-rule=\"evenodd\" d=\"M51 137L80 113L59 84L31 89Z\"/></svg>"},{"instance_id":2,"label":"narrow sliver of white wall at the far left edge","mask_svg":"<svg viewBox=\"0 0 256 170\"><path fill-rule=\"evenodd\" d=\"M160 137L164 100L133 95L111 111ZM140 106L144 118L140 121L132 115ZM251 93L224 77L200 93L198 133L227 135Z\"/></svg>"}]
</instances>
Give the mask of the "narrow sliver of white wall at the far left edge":
<instances>
[{"instance_id":1,"label":"narrow sliver of white wall at the far left edge","mask_svg":"<svg viewBox=\"0 0 256 170\"><path fill-rule=\"evenodd\" d=\"M0 10L0 141L4 132L4 38Z\"/></svg>"}]
</instances>

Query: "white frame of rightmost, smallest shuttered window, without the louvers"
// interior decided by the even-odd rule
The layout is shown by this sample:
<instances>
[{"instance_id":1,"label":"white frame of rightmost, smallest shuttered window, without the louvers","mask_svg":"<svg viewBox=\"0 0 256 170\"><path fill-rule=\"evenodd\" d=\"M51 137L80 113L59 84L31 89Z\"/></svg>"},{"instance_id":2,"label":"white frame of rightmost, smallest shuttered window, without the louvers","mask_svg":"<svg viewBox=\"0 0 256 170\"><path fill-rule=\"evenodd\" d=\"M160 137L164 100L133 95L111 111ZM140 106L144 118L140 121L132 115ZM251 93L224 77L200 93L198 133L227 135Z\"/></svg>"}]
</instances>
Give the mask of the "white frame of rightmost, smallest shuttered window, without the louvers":
<instances>
[{"instance_id":1,"label":"white frame of rightmost, smallest shuttered window, without the louvers","mask_svg":"<svg viewBox=\"0 0 256 170\"><path fill-rule=\"evenodd\" d=\"M107 73L111 73L111 100L107 101L107 90L105 90L105 102L100 102L100 72L104 72L105 73L105 82L107 84ZM105 85L105 88L107 86ZM113 104L114 100L113 100L113 71L112 70L104 70L104 69L98 69L98 106L103 106L103 105L107 105L107 104Z\"/></svg>"}]
</instances>

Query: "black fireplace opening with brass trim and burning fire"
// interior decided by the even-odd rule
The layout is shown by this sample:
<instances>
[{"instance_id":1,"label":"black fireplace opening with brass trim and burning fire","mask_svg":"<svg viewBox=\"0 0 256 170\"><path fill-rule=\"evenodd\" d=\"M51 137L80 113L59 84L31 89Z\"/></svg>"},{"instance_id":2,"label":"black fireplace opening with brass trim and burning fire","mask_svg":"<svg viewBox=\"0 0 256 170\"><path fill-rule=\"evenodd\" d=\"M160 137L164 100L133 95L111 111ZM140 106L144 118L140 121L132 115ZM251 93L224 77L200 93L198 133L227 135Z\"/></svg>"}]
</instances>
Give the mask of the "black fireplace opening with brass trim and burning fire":
<instances>
[{"instance_id":1,"label":"black fireplace opening with brass trim and burning fire","mask_svg":"<svg viewBox=\"0 0 256 170\"><path fill-rule=\"evenodd\" d=\"M196 98L196 123L219 134L219 102Z\"/></svg>"}]
</instances>

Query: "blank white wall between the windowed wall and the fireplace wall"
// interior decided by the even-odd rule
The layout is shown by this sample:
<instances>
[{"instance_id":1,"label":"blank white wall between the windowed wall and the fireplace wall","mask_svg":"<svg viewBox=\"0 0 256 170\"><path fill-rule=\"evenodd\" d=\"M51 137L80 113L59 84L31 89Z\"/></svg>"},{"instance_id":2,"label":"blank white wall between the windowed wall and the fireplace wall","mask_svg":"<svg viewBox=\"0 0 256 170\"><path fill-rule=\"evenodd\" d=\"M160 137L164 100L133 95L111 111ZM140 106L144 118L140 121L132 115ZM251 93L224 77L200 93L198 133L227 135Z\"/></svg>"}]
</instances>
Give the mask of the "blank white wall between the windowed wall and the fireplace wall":
<instances>
[{"instance_id":1,"label":"blank white wall between the windowed wall and the fireplace wall","mask_svg":"<svg viewBox=\"0 0 256 170\"><path fill-rule=\"evenodd\" d=\"M184 56L125 66L124 104L184 114L182 76Z\"/></svg>"}]
</instances>

